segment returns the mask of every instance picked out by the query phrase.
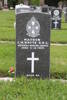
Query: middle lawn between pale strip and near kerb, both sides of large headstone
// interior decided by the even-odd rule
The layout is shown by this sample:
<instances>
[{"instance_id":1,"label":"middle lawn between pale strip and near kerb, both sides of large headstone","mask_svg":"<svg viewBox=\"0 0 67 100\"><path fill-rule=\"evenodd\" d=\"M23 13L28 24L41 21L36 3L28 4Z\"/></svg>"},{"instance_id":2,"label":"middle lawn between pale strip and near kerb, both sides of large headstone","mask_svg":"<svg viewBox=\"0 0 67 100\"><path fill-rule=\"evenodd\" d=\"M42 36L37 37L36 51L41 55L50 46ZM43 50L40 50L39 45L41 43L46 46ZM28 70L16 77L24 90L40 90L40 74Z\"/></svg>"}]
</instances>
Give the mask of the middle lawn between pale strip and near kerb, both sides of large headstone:
<instances>
[{"instance_id":1,"label":"middle lawn between pale strip and near kerb, both sides of large headstone","mask_svg":"<svg viewBox=\"0 0 67 100\"><path fill-rule=\"evenodd\" d=\"M67 79L67 47L51 46L50 55L51 76ZM15 67L15 45L0 44L0 75L8 75L11 66Z\"/></svg>"}]
</instances>

